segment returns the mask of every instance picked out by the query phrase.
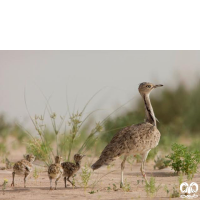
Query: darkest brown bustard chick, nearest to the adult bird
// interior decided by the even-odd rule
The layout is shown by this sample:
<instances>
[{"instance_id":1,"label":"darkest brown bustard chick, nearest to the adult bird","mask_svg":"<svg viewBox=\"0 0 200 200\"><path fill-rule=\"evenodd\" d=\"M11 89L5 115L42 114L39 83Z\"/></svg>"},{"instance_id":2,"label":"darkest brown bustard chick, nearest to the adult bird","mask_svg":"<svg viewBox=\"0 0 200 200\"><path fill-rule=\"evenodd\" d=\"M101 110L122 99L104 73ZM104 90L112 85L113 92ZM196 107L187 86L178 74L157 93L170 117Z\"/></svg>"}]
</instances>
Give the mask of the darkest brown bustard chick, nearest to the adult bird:
<instances>
[{"instance_id":1,"label":"darkest brown bustard chick, nearest to the adult bird","mask_svg":"<svg viewBox=\"0 0 200 200\"><path fill-rule=\"evenodd\" d=\"M85 155L81 154L75 154L74 155L74 161L75 163L71 162L63 162L62 168L63 168L63 176L64 176L64 182L65 182L65 188L67 187L67 181L72 184L72 186L75 186L69 178L73 176L80 168L81 168L81 160Z\"/></svg>"}]
</instances>

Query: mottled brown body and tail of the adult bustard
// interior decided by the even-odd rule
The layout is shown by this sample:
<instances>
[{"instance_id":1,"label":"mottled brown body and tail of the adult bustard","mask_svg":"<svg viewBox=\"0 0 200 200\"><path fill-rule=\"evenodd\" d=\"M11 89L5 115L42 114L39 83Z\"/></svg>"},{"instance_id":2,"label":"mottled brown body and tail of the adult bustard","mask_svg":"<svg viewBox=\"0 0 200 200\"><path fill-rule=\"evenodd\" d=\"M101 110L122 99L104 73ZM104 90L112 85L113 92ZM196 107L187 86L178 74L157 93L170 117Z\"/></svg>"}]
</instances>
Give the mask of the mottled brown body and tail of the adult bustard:
<instances>
[{"instance_id":1,"label":"mottled brown body and tail of the adult bustard","mask_svg":"<svg viewBox=\"0 0 200 200\"><path fill-rule=\"evenodd\" d=\"M119 131L104 148L99 160L91 167L93 170L102 165L108 165L111 161L123 154L130 152L142 154L157 146L160 132L150 123L141 123L126 127Z\"/></svg>"}]
</instances>

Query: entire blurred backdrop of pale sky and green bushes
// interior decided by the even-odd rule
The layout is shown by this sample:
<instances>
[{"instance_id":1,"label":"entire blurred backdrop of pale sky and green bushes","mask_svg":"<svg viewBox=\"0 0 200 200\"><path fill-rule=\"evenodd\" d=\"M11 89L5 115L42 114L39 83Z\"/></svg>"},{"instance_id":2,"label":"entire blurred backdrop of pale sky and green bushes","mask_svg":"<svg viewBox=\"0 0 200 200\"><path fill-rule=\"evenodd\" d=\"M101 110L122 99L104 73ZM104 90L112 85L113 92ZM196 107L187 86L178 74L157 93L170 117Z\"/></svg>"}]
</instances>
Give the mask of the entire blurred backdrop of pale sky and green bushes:
<instances>
[{"instance_id":1,"label":"entire blurred backdrop of pale sky and green bushes","mask_svg":"<svg viewBox=\"0 0 200 200\"><path fill-rule=\"evenodd\" d=\"M150 96L162 135L150 158L176 141L200 149L200 51L0 51L0 156L36 151L33 138L43 145L35 126L42 115L42 137L54 152L58 137L57 151L67 159L72 116L85 105L82 122L89 117L72 151L99 122L96 145L91 140L85 147L99 155L116 132L144 121L141 82L164 85Z\"/></svg>"}]
</instances>

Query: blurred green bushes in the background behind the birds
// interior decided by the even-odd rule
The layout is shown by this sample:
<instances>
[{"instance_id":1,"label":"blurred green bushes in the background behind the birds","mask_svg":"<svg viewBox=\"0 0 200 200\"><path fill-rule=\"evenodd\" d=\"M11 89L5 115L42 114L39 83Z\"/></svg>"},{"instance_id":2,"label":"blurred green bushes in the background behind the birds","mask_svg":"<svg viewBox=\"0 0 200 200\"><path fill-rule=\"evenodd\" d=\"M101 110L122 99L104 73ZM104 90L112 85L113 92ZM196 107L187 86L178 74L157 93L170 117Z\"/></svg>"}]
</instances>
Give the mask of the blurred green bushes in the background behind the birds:
<instances>
[{"instance_id":1,"label":"blurred green bushes in the background behind the birds","mask_svg":"<svg viewBox=\"0 0 200 200\"><path fill-rule=\"evenodd\" d=\"M150 151L148 160L155 158L158 152L170 151L171 145L175 142L185 143L190 145L190 150L200 150L200 81L189 88L179 83L175 89L164 86L159 89L159 92L153 91L151 93L151 103L155 112L156 118L159 120L157 123L158 129L161 133L161 139L158 147ZM117 117L108 118L104 123L103 132L99 133L98 140L95 145L93 140L88 142L87 155L99 155L103 148L109 143L112 137L120 131L123 127L130 126L132 124L141 123L145 118L144 103L138 93L138 98L133 102L136 106L130 106L129 111L120 114ZM133 109L131 109L133 108ZM123 107L121 108L123 110ZM91 133L91 121L87 121L84 127L77 134L73 142L73 153L76 153L83 145L84 141ZM68 126L68 120L64 122L65 126ZM67 127L68 128L68 127ZM71 135L69 131L60 132L58 135L58 151L67 159L69 152L69 144L71 142ZM19 128L14 122L7 122L5 115L0 114L0 156L8 154L8 147L5 141L8 136L16 138L17 144L29 144L27 147L28 152L36 152L38 158L45 159L45 155L39 155L37 149L32 145L34 140L28 136L21 128ZM53 149L55 146L56 135L53 131L45 128L43 136L44 141L47 142L49 149ZM34 137L35 138L35 137ZM36 136L36 138L40 138ZM96 140L96 138L94 138ZM43 142L44 142L43 141ZM31 145L32 146L31 146ZM41 143L43 148L43 143ZM12 145L13 147L16 145ZM50 148L51 147L51 148ZM54 151L55 149L53 149ZM45 150L44 150L45 151ZM48 150L50 152L51 150ZM54 151L55 152L55 151Z\"/></svg>"}]
</instances>

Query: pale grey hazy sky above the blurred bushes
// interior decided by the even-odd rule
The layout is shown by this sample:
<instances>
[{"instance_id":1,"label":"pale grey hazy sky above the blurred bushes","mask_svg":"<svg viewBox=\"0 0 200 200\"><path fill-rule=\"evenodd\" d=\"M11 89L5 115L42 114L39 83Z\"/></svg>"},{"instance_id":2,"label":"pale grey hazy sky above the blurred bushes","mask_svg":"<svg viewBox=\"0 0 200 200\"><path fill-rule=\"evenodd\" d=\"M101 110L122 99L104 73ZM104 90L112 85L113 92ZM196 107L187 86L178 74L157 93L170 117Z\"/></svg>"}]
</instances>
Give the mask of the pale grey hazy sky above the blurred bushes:
<instances>
[{"instance_id":1,"label":"pale grey hazy sky above the blurred bushes","mask_svg":"<svg viewBox=\"0 0 200 200\"><path fill-rule=\"evenodd\" d=\"M139 98L141 82L175 87L180 79L193 83L199 72L200 51L0 51L0 113L30 123L24 88L34 116L45 107L39 88L46 97L52 95L52 109L64 115L66 86L71 110L76 97L80 110L96 91L108 86L86 111L105 109L98 112L102 119L130 98Z\"/></svg>"}]
</instances>

